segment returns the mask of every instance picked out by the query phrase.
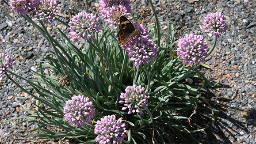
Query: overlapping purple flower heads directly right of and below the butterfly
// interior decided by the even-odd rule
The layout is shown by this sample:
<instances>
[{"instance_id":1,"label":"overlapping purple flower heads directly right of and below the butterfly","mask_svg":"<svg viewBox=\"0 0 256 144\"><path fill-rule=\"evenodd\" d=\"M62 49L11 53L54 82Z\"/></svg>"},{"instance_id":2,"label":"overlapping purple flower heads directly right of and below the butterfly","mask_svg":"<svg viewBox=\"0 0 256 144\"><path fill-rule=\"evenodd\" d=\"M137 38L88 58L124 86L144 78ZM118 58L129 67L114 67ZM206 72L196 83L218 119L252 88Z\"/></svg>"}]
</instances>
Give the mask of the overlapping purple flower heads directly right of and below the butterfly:
<instances>
[{"instance_id":1,"label":"overlapping purple flower heads directly right of and below the butterfly","mask_svg":"<svg viewBox=\"0 0 256 144\"><path fill-rule=\"evenodd\" d=\"M135 67L138 67L144 62L150 64L150 60L157 58L154 55L159 50L157 49L157 44L149 38L149 30L144 24L134 23L134 27L138 29L138 36L134 36L129 42L122 45L122 47L131 57L130 61L134 61Z\"/></svg>"}]
</instances>

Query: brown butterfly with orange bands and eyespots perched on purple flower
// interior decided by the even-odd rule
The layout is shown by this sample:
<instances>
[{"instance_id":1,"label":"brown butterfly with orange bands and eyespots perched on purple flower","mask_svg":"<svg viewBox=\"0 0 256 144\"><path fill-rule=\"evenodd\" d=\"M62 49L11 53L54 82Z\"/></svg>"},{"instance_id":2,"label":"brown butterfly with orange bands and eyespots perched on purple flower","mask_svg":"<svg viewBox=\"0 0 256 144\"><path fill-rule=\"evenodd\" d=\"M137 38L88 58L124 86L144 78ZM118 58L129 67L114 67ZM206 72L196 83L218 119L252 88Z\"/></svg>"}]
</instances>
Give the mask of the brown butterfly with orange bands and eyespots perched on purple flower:
<instances>
[{"instance_id":1,"label":"brown butterfly with orange bands and eyespots perched on purple flower","mask_svg":"<svg viewBox=\"0 0 256 144\"><path fill-rule=\"evenodd\" d=\"M120 45L125 45L138 33L138 29L135 30L134 25L125 16L121 16L119 19L117 38Z\"/></svg>"}]
</instances>

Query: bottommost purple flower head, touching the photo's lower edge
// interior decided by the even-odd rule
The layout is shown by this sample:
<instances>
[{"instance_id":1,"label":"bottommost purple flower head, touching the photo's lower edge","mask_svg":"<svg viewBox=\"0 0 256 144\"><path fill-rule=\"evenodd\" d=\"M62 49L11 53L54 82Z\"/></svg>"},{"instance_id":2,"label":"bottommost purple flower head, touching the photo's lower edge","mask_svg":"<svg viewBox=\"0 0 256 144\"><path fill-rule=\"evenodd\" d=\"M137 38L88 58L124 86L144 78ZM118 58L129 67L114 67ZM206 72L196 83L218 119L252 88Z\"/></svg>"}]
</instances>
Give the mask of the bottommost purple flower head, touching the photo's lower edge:
<instances>
[{"instance_id":1,"label":"bottommost purple flower head, touching the photo's lower edge","mask_svg":"<svg viewBox=\"0 0 256 144\"><path fill-rule=\"evenodd\" d=\"M127 132L122 117L115 120L115 115L108 115L100 118L95 125L94 133L98 134L96 141L99 144L120 144Z\"/></svg>"}]
</instances>

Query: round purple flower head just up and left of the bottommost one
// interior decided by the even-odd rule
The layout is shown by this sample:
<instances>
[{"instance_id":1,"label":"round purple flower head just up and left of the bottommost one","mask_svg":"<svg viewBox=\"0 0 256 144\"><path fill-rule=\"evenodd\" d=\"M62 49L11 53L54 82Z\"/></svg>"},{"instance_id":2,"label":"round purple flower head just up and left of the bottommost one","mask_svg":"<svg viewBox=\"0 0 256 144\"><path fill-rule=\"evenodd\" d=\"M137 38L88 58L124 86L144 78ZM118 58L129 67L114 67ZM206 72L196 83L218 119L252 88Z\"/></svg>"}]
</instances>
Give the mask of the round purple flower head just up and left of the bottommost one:
<instances>
[{"instance_id":1,"label":"round purple flower head just up and left of the bottommost one","mask_svg":"<svg viewBox=\"0 0 256 144\"><path fill-rule=\"evenodd\" d=\"M86 125L85 122L90 123L94 117L94 111L92 102L88 97L74 95L71 100L66 101L63 114L70 124L78 127Z\"/></svg>"}]
</instances>

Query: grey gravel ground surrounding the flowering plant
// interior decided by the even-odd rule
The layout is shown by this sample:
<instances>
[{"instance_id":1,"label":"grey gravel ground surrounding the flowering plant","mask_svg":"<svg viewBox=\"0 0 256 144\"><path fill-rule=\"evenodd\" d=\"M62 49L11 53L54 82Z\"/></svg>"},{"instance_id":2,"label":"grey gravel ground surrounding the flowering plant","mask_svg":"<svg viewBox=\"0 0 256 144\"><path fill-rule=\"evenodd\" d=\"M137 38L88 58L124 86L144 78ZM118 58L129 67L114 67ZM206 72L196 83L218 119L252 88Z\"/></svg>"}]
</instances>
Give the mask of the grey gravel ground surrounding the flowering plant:
<instances>
[{"instance_id":1,"label":"grey gravel ground surrounding the flowering plant","mask_svg":"<svg viewBox=\"0 0 256 144\"><path fill-rule=\"evenodd\" d=\"M90 11L96 11L97 4L94 0ZM147 0L131 0L134 13L139 10L140 4L149 6ZM198 2L195 2L198 1ZM96 1L97 2L97 1ZM85 9L81 2L74 2L79 10ZM203 101L199 101L197 114L192 117L191 123L194 129L207 127L201 132L172 139L176 143L225 143L225 144L256 144L256 1L255 0L154 0L159 21L167 34L167 22L175 23L176 39L180 37L179 31L184 34L193 32L203 34L209 45L213 44L214 37L204 34L201 22L204 16L210 12L220 11L226 15L229 29L218 42L214 52L210 55L206 64L210 68L201 68L206 72L206 77L212 82L219 82L217 87L209 87L206 84L203 97L210 102L215 113L215 126L210 126L210 109ZM70 1L64 1L62 8L74 15ZM15 57L15 61L38 71L37 55L49 55L50 44L43 36L20 15L0 1L0 53L6 53ZM67 14L62 11L60 19L68 22ZM146 22L153 22L153 15ZM50 34L60 40L55 27L68 33L65 26L56 21L48 28ZM24 65L16 64L13 72L23 77L33 79L33 73ZM48 70L45 70L47 74ZM28 84L19 78L12 76L23 87ZM200 84L200 80L196 83ZM0 84L0 143L3 144L45 144L58 143L58 140L43 140L32 136L35 132L25 132L37 127L36 124L21 123L20 120L4 123L4 121L26 116L28 113L21 105L35 111L33 99L20 99L28 97L20 92L10 80L4 80ZM190 113L191 114L191 113ZM189 115L190 115L189 114ZM184 114L186 115L186 114ZM184 121L186 123L186 121ZM185 124L186 125L186 124ZM65 143L62 141L61 143Z\"/></svg>"}]
</instances>

